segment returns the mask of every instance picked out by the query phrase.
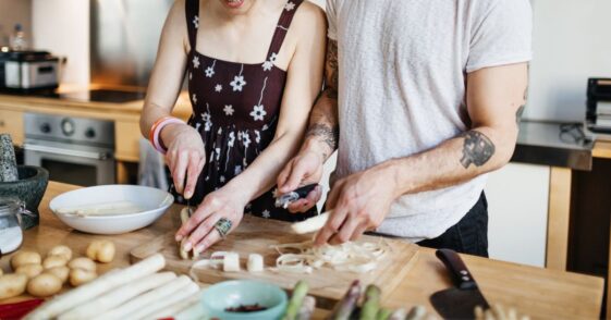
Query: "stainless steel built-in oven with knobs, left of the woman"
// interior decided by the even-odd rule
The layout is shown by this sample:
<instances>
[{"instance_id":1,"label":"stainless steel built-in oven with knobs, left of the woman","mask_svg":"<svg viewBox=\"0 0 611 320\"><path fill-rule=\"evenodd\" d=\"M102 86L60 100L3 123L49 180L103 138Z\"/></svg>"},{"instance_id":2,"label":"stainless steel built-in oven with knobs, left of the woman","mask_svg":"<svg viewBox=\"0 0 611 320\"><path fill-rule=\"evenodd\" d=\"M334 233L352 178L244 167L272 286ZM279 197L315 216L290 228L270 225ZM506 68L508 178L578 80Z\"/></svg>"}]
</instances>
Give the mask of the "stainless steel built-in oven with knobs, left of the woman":
<instances>
[{"instance_id":1,"label":"stainless steel built-in oven with knobs, left of the woman","mask_svg":"<svg viewBox=\"0 0 611 320\"><path fill-rule=\"evenodd\" d=\"M115 182L114 123L26 113L26 164L49 171L50 180L82 186Z\"/></svg>"}]
</instances>

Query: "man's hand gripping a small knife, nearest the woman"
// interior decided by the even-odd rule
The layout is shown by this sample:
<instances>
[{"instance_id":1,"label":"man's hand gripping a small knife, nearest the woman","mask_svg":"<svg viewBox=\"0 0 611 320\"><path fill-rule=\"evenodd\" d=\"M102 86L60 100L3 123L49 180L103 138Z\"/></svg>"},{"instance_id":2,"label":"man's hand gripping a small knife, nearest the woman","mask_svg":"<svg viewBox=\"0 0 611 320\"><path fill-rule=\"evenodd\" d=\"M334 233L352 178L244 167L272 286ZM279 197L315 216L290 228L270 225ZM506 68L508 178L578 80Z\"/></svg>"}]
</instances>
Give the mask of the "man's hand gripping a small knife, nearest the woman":
<instances>
[{"instance_id":1,"label":"man's hand gripping a small knife, nearest the woman","mask_svg":"<svg viewBox=\"0 0 611 320\"><path fill-rule=\"evenodd\" d=\"M319 183L322 177L325 159L316 152L303 151L293 158L280 175L278 175L278 192L281 194L290 193L300 186ZM322 188L317 186L306 198L298 199L289 205L289 211L306 212L320 200Z\"/></svg>"}]
</instances>

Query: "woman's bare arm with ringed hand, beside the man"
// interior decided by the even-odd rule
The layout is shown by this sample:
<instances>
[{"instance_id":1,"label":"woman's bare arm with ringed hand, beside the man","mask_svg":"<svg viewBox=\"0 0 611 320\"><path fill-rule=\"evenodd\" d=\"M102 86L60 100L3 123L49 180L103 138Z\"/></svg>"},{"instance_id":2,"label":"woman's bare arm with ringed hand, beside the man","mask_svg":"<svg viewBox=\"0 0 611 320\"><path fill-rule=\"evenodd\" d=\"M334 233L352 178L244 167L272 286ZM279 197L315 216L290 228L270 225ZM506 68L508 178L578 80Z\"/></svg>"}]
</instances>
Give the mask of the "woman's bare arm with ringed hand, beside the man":
<instances>
[{"instance_id":1,"label":"woman's bare arm with ringed hand, beside the man","mask_svg":"<svg viewBox=\"0 0 611 320\"><path fill-rule=\"evenodd\" d=\"M326 26L325 12L315 4L304 2L290 30L294 33L291 38L297 40L289 63L276 136L247 170L221 189L209 194L191 220L179 230L176 239L190 235L186 250L193 247L196 251L204 251L218 242L218 232L210 231L221 218L230 219L232 229L237 226L244 206L276 184L280 170L297 151L309 112L322 87Z\"/></svg>"}]
</instances>

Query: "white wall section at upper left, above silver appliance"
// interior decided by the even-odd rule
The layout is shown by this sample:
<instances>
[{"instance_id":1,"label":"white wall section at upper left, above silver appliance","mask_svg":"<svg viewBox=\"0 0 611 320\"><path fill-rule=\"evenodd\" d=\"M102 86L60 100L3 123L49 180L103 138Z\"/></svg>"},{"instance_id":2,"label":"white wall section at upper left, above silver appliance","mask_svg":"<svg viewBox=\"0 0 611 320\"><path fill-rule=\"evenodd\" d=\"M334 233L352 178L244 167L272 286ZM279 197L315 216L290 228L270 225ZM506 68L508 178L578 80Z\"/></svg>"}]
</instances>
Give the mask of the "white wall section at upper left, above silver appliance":
<instances>
[{"instance_id":1,"label":"white wall section at upper left, above silver appliance","mask_svg":"<svg viewBox=\"0 0 611 320\"><path fill-rule=\"evenodd\" d=\"M89 84L89 1L34 0L34 47L68 58L63 84Z\"/></svg>"}]
</instances>

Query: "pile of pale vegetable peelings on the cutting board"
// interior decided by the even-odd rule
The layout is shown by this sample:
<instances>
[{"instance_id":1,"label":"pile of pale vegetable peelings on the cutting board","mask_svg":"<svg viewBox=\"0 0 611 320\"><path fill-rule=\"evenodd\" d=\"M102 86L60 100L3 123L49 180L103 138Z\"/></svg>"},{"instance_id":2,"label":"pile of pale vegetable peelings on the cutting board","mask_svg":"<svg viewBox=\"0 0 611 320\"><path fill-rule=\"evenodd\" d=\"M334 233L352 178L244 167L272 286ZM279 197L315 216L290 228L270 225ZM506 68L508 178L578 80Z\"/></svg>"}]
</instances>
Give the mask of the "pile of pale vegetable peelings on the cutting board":
<instances>
[{"instance_id":1,"label":"pile of pale vegetable peelings on the cutting board","mask_svg":"<svg viewBox=\"0 0 611 320\"><path fill-rule=\"evenodd\" d=\"M314 247L311 241L300 244L273 246L280 254L274 271L311 273L316 268L329 266L338 271L366 273L378 267L378 261L390 251L390 246L379 243L345 243L338 246Z\"/></svg>"}]
</instances>

